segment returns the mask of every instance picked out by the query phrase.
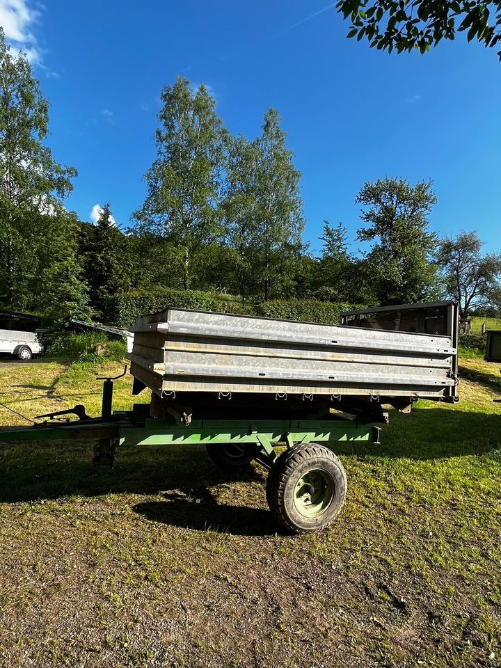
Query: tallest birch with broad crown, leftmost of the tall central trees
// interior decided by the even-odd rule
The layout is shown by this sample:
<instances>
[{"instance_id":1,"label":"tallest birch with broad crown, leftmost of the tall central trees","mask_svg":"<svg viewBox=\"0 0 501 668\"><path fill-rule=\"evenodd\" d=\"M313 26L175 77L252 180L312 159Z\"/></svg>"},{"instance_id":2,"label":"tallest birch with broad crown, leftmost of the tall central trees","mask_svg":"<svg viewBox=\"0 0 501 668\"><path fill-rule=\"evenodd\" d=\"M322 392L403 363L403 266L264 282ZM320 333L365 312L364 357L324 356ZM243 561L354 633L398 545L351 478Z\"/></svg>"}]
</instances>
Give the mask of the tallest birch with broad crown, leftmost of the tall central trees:
<instances>
[{"instance_id":1,"label":"tallest birch with broad crown, leftmost of the tall central trees","mask_svg":"<svg viewBox=\"0 0 501 668\"><path fill-rule=\"evenodd\" d=\"M145 174L147 196L134 214L140 232L159 234L180 249L184 288L191 285L191 262L202 244L220 234L222 123L203 85L195 91L179 77L161 92L157 159Z\"/></svg>"}]
</instances>

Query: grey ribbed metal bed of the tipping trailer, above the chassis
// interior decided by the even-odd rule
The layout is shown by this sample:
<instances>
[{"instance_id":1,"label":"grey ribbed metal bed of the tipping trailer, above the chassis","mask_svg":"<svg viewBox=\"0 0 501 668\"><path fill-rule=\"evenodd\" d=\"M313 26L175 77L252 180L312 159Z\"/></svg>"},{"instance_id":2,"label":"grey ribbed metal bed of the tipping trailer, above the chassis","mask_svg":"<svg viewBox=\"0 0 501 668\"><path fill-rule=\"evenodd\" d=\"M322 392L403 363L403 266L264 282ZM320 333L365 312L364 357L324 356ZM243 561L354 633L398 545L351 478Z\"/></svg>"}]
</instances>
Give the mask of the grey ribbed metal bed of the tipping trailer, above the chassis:
<instances>
[{"instance_id":1,"label":"grey ribbed metal bed of the tipping trailer, above the chassis","mask_svg":"<svg viewBox=\"0 0 501 668\"><path fill-rule=\"evenodd\" d=\"M455 401L457 312L452 302L447 308L450 324L441 335L169 308L136 321L131 372L159 397Z\"/></svg>"}]
</instances>

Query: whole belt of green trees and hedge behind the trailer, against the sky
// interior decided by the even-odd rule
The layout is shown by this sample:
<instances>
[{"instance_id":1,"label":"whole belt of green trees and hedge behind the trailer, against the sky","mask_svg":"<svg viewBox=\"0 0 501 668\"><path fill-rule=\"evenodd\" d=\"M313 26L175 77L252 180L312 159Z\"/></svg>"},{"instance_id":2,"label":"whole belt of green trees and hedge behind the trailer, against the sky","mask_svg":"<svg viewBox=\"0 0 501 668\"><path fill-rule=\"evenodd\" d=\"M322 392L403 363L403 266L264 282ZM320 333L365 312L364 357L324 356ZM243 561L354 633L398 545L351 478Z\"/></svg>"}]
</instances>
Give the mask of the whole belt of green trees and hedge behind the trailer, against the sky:
<instances>
[{"instance_id":1,"label":"whole belt of green trees and hedge behind the trailer, against the sky","mask_svg":"<svg viewBox=\"0 0 501 668\"><path fill-rule=\"evenodd\" d=\"M76 171L45 145L47 100L0 32L1 303L58 326L118 315L130 324L138 309L169 299L331 321L340 303L434 297L438 271L463 317L501 304L500 256L482 255L475 233L443 240L432 262L431 182L366 183L356 199L358 240L370 250L351 253L344 226L324 221L314 257L302 240L301 175L278 112L269 109L260 135L248 139L223 128L205 86L180 78L161 99L157 156L134 228L112 224L109 205L97 225L82 223L63 206Z\"/></svg>"}]
</instances>

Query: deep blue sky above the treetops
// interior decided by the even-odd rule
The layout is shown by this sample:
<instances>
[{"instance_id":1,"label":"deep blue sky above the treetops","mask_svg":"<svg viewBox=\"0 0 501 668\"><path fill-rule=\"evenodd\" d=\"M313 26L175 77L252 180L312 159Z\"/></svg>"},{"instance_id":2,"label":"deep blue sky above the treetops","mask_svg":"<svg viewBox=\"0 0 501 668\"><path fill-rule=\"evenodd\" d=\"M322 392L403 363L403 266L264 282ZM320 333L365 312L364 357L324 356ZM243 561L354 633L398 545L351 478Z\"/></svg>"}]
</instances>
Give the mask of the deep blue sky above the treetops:
<instances>
[{"instance_id":1,"label":"deep blue sky above the treetops","mask_svg":"<svg viewBox=\"0 0 501 668\"><path fill-rule=\"evenodd\" d=\"M440 234L478 230L501 250L501 64L463 35L426 56L347 40L325 0L0 0L51 102L49 144L79 170L67 207L111 202L120 226L143 201L159 92L181 74L209 86L235 134L283 118L303 174L305 239L324 218L360 226L367 180L431 178ZM315 15L317 14L317 15ZM315 16L312 16L315 15Z\"/></svg>"}]
</instances>

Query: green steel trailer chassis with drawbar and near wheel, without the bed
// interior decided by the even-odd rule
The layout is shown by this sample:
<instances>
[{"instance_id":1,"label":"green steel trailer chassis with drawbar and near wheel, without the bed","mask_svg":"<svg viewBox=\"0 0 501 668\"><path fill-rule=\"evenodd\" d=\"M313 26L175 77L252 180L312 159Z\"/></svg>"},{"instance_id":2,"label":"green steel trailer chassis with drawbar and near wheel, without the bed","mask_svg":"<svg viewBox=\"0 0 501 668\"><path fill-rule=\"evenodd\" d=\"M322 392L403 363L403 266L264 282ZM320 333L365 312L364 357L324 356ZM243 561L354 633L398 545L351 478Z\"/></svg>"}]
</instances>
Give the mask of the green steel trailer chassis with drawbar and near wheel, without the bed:
<instances>
[{"instance_id":1,"label":"green steel trailer chassis with drawbar and near wheel, without the bed","mask_svg":"<svg viewBox=\"0 0 501 668\"><path fill-rule=\"evenodd\" d=\"M31 427L0 428L0 443L93 440L95 465L113 466L118 445L205 445L209 456L225 466L255 460L270 470L267 499L271 511L283 527L294 532L324 528L344 503L346 474L326 444L379 443L381 429L372 422L329 414L277 420L205 417L186 425L176 424L173 418L149 417L149 404L113 412L112 381L104 379L100 417L88 417L84 406L75 406L71 411L40 416L48 419ZM70 414L79 419L68 419ZM277 445L286 447L280 456L275 452Z\"/></svg>"}]
</instances>

